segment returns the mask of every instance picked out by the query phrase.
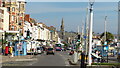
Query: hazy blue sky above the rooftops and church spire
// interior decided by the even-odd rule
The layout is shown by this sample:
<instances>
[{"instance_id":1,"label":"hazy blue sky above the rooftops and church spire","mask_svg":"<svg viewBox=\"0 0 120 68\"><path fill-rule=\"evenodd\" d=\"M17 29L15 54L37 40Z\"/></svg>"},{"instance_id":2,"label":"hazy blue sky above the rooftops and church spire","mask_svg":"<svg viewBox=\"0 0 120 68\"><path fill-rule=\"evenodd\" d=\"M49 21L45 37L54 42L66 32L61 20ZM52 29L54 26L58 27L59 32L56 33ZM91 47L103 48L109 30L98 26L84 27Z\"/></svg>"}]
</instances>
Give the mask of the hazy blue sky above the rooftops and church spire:
<instances>
[{"instance_id":1,"label":"hazy blue sky above the rooftops and church spire","mask_svg":"<svg viewBox=\"0 0 120 68\"><path fill-rule=\"evenodd\" d=\"M27 2L26 14L38 22L48 26L60 28L61 20L64 19L66 31L77 31L85 23L87 2ZM95 33L104 32L104 17L107 18L107 31L117 34L117 2L95 2L94 24ZM81 29L80 29L81 30ZM81 32L81 31L80 31Z\"/></svg>"}]
</instances>

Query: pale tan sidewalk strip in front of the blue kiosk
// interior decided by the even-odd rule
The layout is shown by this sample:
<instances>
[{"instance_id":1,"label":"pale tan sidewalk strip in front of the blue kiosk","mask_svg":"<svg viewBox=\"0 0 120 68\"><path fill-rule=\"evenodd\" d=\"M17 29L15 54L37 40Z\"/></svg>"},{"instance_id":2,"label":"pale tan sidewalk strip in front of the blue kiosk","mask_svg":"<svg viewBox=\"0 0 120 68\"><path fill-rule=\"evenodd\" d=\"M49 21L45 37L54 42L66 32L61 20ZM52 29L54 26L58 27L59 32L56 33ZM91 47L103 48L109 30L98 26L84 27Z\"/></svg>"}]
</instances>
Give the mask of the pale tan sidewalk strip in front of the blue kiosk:
<instances>
[{"instance_id":1,"label":"pale tan sidewalk strip in front of the blue kiosk","mask_svg":"<svg viewBox=\"0 0 120 68\"><path fill-rule=\"evenodd\" d=\"M2 56L2 61L0 63L11 62L11 61L24 61L27 59L30 59L30 60L33 59L33 55L14 56L14 57Z\"/></svg>"}]
</instances>

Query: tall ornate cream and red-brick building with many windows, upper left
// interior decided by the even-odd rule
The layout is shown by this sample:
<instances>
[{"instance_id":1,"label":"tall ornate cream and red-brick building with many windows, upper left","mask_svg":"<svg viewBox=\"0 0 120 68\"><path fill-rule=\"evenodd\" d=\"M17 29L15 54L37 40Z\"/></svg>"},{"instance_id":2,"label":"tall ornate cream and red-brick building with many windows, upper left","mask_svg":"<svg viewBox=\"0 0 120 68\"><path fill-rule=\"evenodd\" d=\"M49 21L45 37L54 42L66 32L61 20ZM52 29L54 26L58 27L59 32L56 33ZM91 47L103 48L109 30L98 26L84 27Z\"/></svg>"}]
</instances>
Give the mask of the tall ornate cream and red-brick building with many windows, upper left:
<instances>
[{"instance_id":1,"label":"tall ornate cream and red-brick building with many windows, upper left","mask_svg":"<svg viewBox=\"0 0 120 68\"><path fill-rule=\"evenodd\" d=\"M9 12L9 30L23 33L25 1L4 0L2 7L6 7Z\"/></svg>"}]
</instances>

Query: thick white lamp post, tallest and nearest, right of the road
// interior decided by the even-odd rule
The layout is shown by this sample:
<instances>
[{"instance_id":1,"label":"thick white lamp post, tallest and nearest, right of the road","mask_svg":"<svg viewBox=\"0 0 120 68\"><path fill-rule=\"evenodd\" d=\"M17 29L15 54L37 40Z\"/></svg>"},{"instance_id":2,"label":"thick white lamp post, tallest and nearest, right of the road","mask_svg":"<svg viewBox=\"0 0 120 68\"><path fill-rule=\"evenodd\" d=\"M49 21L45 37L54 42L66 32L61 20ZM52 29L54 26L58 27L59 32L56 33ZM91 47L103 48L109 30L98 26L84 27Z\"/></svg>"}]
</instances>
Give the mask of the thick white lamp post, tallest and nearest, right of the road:
<instances>
[{"instance_id":1,"label":"thick white lamp post, tallest and nearest, right of the road","mask_svg":"<svg viewBox=\"0 0 120 68\"><path fill-rule=\"evenodd\" d=\"M88 54L88 64L92 63L92 26L93 26L93 4L94 0L89 0L90 4L90 25L89 25L89 54Z\"/></svg>"}]
</instances>

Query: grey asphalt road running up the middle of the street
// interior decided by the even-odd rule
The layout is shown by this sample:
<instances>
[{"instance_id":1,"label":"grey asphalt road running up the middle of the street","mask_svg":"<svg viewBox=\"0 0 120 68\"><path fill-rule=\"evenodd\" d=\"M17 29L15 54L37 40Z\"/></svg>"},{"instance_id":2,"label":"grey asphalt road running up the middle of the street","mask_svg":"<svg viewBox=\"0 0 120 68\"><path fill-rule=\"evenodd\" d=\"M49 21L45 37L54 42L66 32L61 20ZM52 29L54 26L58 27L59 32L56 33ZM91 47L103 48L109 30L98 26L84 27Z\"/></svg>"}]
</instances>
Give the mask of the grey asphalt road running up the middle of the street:
<instances>
[{"instance_id":1,"label":"grey asphalt road running up the middle of the street","mask_svg":"<svg viewBox=\"0 0 120 68\"><path fill-rule=\"evenodd\" d=\"M3 66L70 66L68 51L57 51L55 55L41 54L34 57L33 61L13 61L3 63Z\"/></svg>"}]
</instances>

